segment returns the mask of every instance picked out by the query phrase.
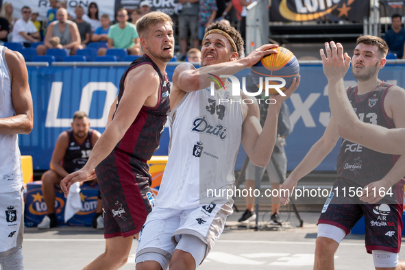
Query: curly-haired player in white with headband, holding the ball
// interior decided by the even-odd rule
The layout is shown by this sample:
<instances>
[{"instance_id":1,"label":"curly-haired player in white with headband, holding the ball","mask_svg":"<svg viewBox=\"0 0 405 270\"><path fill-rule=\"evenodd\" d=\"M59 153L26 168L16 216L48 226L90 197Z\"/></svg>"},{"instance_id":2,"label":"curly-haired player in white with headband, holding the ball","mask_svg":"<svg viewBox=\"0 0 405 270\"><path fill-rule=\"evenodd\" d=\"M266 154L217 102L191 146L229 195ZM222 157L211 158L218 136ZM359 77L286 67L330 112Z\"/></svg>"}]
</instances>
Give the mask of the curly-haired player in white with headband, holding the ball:
<instances>
[{"instance_id":1,"label":"curly-haired player in white with headband, holding the ball","mask_svg":"<svg viewBox=\"0 0 405 270\"><path fill-rule=\"evenodd\" d=\"M232 200L208 195L207 188L226 191L233 187L241 142L254 164L264 167L269 162L280 106L297 89L299 79L286 90L286 97L272 96L276 103L269 106L262 128L256 101L239 103L247 96L232 97L232 84L225 79L225 87L211 94L208 77L219 77L223 67L230 74L252 66L274 53L274 47L263 45L238 59L243 50L241 35L233 27L212 23L201 49L202 65L209 67L196 70L184 63L175 69L169 160L155 208L139 235L137 270L197 269L232 214Z\"/></svg>"}]
</instances>

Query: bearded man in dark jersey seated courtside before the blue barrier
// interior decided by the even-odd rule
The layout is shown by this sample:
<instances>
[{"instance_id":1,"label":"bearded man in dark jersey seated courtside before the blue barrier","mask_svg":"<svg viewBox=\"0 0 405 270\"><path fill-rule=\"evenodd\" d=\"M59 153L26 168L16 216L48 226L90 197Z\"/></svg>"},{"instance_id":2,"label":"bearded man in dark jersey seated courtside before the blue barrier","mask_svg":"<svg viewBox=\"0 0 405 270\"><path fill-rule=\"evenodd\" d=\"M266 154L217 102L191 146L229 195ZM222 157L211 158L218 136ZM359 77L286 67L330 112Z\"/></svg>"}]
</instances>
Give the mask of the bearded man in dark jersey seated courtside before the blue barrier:
<instances>
[{"instance_id":1,"label":"bearded man in dark jersey seated courtside before the blue barrier","mask_svg":"<svg viewBox=\"0 0 405 270\"><path fill-rule=\"evenodd\" d=\"M58 10L59 12L59 10ZM38 229L58 226L55 214L55 185L73 171L82 169L101 134L90 129L85 112L75 112L71 130L58 136L51 158L51 169L42 175L42 195L47 204L48 214L38 224Z\"/></svg>"}]
</instances>

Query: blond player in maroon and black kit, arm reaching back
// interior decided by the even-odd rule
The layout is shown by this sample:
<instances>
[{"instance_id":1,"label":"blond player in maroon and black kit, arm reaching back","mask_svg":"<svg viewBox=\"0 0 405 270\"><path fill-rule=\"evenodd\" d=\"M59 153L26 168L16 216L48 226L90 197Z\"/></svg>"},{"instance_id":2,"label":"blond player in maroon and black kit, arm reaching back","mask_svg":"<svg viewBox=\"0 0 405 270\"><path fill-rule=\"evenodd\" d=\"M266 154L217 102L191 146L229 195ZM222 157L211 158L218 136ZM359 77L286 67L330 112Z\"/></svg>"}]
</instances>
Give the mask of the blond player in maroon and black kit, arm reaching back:
<instances>
[{"instance_id":1,"label":"blond player in maroon and black kit, arm reaching back","mask_svg":"<svg viewBox=\"0 0 405 270\"><path fill-rule=\"evenodd\" d=\"M145 55L124 72L116 109L86 165L61 182L65 196L71 184L95 175L103 197L106 251L84 269L119 269L127 262L154 205L147 160L159 147L169 112L170 84L165 73L173 58L173 22L151 12L136 23Z\"/></svg>"}]
</instances>

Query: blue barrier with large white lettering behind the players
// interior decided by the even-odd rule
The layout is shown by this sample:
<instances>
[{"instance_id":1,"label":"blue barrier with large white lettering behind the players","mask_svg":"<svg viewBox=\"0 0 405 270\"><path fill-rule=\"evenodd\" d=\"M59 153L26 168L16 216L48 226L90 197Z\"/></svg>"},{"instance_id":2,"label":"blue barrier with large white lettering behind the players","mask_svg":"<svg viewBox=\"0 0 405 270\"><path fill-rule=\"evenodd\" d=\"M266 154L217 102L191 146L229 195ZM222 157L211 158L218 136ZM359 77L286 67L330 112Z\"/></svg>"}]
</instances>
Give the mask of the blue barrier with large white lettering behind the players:
<instances>
[{"instance_id":1,"label":"blue barrier with large white lettering behind the players","mask_svg":"<svg viewBox=\"0 0 405 270\"><path fill-rule=\"evenodd\" d=\"M404 63L390 62L380 71L379 78L391 84L405 87ZM71 63L70 63L71 64ZM58 63L57 66L27 66L29 86L34 101L34 129L29 135L19 136L21 154L33 157L34 170L49 169L49 161L58 135L71 127L71 117L76 110L88 112L91 127L104 131L108 110L118 93L119 80L129 63L114 66L97 63L74 65ZM176 63L167 66L169 79ZM101 66L100 66L101 65ZM302 82L291 99L286 101L295 124L293 133L286 139L288 169L294 169L304 158L310 147L321 138L330 119L327 80L319 62L301 63ZM345 85L356 85L349 71ZM160 149L156 155L167 155L169 131L164 130ZM339 143L317 171L335 171ZM243 147L236 160L240 169L245 158Z\"/></svg>"}]
</instances>

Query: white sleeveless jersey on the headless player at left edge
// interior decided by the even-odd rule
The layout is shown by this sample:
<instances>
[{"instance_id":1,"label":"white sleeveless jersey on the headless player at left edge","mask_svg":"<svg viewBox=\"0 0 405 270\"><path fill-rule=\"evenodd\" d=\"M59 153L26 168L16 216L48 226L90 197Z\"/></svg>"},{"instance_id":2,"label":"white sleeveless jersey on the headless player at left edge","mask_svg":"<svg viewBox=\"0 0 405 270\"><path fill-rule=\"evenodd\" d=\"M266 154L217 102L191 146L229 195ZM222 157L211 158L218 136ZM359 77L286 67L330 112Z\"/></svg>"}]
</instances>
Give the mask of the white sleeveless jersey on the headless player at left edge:
<instances>
[{"instance_id":1,"label":"white sleeveless jersey on the headless player at left edge","mask_svg":"<svg viewBox=\"0 0 405 270\"><path fill-rule=\"evenodd\" d=\"M0 46L0 118L14 116L11 78L5 60L5 47ZM16 134L0 133L0 193L21 190L22 169L19 138Z\"/></svg>"}]
</instances>

